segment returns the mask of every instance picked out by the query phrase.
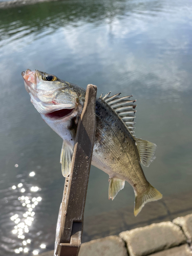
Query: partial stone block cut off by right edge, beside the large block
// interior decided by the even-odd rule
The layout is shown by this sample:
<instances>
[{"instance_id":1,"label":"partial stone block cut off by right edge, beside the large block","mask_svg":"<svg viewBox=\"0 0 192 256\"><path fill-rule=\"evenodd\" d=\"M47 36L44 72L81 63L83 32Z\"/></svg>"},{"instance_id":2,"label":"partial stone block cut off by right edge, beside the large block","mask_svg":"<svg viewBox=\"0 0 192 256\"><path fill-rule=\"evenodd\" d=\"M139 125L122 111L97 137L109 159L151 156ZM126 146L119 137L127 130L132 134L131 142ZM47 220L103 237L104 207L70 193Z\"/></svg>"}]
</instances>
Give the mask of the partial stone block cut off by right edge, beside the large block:
<instances>
[{"instance_id":1,"label":"partial stone block cut off by right edge, beside the large block","mask_svg":"<svg viewBox=\"0 0 192 256\"><path fill-rule=\"evenodd\" d=\"M179 225L185 236L187 237L187 242L192 242L192 214L189 214L185 217L178 217L175 220L173 220L173 223L176 225Z\"/></svg>"}]
</instances>

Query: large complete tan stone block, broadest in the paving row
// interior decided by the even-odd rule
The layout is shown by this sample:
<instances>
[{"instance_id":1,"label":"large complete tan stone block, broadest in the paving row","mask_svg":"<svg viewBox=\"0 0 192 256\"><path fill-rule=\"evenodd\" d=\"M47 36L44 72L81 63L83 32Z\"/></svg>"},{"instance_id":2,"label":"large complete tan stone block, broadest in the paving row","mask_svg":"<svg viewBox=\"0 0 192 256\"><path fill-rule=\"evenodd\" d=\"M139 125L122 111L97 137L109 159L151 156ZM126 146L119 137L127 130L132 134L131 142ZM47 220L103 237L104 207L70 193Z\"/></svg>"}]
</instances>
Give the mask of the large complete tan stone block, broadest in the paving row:
<instances>
[{"instance_id":1,"label":"large complete tan stone block, broadest in the paving row","mask_svg":"<svg viewBox=\"0 0 192 256\"><path fill-rule=\"evenodd\" d=\"M126 242L130 256L144 256L186 243L180 227L170 221L124 231L119 236Z\"/></svg>"}]
</instances>

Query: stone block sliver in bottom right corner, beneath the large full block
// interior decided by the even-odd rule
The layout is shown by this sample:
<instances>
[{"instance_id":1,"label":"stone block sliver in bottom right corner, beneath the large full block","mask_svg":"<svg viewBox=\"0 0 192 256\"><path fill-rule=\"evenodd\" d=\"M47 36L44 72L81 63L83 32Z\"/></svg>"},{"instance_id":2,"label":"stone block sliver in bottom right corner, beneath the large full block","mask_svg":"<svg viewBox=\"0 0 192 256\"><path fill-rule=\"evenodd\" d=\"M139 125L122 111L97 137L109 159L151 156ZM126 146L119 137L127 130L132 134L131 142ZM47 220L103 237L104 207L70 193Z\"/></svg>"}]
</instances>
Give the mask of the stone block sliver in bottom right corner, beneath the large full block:
<instances>
[{"instance_id":1,"label":"stone block sliver in bottom right corner, beneath the large full block","mask_svg":"<svg viewBox=\"0 0 192 256\"><path fill-rule=\"evenodd\" d=\"M191 256L192 251L187 244L177 246L168 250L160 251L150 256Z\"/></svg>"}]
</instances>

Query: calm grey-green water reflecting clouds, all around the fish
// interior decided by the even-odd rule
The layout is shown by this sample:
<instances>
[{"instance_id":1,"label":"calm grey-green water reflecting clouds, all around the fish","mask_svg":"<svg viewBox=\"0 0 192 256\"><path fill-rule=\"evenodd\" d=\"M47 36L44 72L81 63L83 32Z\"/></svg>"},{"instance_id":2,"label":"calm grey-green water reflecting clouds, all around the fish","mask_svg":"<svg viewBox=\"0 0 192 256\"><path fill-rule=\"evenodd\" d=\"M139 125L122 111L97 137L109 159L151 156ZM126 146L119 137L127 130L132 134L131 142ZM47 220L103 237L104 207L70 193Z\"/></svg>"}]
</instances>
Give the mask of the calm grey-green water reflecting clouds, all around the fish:
<instances>
[{"instance_id":1,"label":"calm grey-green water reflecting clouds, all around the fish","mask_svg":"<svg viewBox=\"0 0 192 256\"><path fill-rule=\"evenodd\" d=\"M53 249L65 181L62 141L30 102L20 75L27 68L83 88L96 84L98 96L133 94L136 137L158 145L156 160L143 168L147 179L164 197L191 191L191 13L187 0L63 1L0 10L1 256L19 248L40 253L41 244ZM128 183L113 202L108 185L108 175L92 167L85 218L133 207ZM34 208L33 198L39 200Z\"/></svg>"}]
</instances>

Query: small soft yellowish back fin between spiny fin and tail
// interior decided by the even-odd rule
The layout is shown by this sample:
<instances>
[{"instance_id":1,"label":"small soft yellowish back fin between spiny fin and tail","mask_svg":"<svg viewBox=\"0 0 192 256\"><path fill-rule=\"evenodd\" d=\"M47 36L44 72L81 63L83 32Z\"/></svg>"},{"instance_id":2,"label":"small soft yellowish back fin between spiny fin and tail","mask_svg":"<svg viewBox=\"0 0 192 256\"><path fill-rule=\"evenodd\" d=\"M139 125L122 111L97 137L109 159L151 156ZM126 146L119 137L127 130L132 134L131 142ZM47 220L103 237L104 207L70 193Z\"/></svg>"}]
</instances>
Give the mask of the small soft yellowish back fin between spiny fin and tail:
<instances>
[{"instance_id":1,"label":"small soft yellowish back fin between spiny fin and tail","mask_svg":"<svg viewBox=\"0 0 192 256\"><path fill-rule=\"evenodd\" d=\"M144 166L148 167L155 159L154 155L157 145L147 140L137 138L135 138L135 140L139 151L140 161Z\"/></svg>"}]
</instances>

